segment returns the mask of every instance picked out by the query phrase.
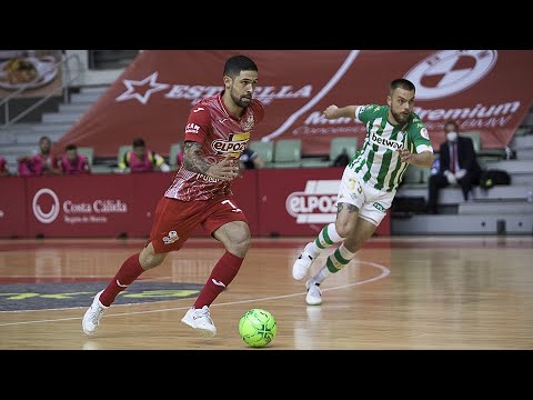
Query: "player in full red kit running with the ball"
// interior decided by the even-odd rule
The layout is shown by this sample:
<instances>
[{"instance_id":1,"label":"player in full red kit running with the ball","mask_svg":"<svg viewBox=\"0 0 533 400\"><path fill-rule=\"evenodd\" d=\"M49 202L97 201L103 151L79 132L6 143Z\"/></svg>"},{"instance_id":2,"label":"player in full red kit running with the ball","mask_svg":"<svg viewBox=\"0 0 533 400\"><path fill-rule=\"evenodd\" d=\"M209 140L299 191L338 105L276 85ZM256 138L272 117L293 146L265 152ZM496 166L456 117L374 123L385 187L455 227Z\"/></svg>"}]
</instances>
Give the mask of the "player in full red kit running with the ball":
<instances>
[{"instance_id":1,"label":"player in full red kit running with the ball","mask_svg":"<svg viewBox=\"0 0 533 400\"><path fill-rule=\"evenodd\" d=\"M183 163L158 203L150 238L94 297L82 320L87 334L95 332L121 291L142 272L160 266L170 251L180 250L198 226L222 242L225 252L181 321L205 336L217 333L209 307L235 278L250 248L247 217L233 199L231 181L239 177L239 158L264 116L262 103L252 99L258 67L250 58L229 58L223 83L222 92L191 109L184 132Z\"/></svg>"}]
</instances>

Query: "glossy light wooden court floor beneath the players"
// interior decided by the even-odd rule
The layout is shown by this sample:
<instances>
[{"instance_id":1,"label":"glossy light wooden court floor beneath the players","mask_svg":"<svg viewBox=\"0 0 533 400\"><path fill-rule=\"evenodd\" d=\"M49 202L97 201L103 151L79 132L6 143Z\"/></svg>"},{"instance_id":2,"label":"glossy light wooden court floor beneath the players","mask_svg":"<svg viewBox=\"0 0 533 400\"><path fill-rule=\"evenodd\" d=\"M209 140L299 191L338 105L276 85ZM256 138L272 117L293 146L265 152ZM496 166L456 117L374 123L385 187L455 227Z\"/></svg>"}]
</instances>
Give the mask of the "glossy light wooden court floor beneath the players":
<instances>
[{"instance_id":1,"label":"glossy light wooden court floor beneath the players","mask_svg":"<svg viewBox=\"0 0 533 400\"><path fill-rule=\"evenodd\" d=\"M0 350L533 349L533 237L375 237L323 283L323 304L306 306L305 280L294 281L291 269L311 239L253 239L238 277L211 307L214 338L180 322L194 298L113 304L92 337L81 330L90 300L69 307L67 299L62 308L0 311ZM0 240L0 296L9 298L9 284L20 282L95 281L95 293L143 243ZM222 253L213 239L191 239L142 282L203 284ZM238 334L251 308L278 321L275 339L261 350Z\"/></svg>"}]
</instances>

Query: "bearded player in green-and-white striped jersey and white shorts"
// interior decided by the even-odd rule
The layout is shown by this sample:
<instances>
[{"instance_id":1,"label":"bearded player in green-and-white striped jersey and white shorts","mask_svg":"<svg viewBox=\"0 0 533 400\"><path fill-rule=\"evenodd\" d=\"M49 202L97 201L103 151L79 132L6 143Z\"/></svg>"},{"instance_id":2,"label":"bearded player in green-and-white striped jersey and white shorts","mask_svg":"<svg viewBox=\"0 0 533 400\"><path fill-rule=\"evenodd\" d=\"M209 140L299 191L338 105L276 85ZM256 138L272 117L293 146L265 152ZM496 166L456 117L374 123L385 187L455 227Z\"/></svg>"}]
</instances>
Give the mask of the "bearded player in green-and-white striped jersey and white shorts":
<instances>
[{"instance_id":1,"label":"bearded player in green-and-white striped jersey and white shorts","mask_svg":"<svg viewBox=\"0 0 533 400\"><path fill-rule=\"evenodd\" d=\"M329 106L326 119L354 118L366 127L363 146L352 156L342 174L336 198L335 222L325 226L308 243L292 267L302 280L322 250L341 242L325 264L305 283L305 301L322 303L320 284L345 267L372 237L386 214L409 164L431 168L433 148L428 129L413 112L415 87L406 79L389 86L386 106Z\"/></svg>"}]
</instances>

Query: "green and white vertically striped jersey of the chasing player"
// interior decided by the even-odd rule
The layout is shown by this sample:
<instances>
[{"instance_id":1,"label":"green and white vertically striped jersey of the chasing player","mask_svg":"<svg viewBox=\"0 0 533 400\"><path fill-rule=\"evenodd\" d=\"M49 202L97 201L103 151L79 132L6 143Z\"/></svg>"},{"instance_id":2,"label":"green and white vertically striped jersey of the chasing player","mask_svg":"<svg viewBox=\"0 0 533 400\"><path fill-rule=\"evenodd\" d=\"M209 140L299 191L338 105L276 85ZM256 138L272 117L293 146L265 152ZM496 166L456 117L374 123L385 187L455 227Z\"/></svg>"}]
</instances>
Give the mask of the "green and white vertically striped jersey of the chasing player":
<instances>
[{"instance_id":1,"label":"green and white vertically striped jersey of the chasing player","mask_svg":"<svg viewBox=\"0 0 533 400\"><path fill-rule=\"evenodd\" d=\"M391 124L388 106L366 104L355 110L355 118L365 124L363 146L352 157L348 168L362 173L363 180L375 189L392 191L402 182L409 167L400 160L399 149L411 152L431 151L430 136L414 112L405 124Z\"/></svg>"}]
</instances>

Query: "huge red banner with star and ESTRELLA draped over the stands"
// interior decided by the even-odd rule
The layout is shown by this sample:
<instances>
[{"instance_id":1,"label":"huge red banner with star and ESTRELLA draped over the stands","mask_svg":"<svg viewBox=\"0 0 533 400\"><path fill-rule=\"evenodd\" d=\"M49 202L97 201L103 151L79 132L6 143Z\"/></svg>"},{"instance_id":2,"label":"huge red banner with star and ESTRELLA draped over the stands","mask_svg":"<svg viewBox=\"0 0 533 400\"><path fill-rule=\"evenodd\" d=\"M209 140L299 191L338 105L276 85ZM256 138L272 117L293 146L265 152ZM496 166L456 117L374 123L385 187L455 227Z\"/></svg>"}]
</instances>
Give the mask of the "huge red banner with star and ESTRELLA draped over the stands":
<instances>
[{"instance_id":1,"label":"huge red banner with star and ESTRELLA draped over the stands","mask_svg":"<svg viewBox=\"0 0 533 400\"><path fill-rule=\"evenodd\" d=\"M532 50L144 50L54 148L73 142L115 157L150 132L148 146L167 156L183 139L191 107L223 89L224 61L237 53L259 68L254 97L265 117L251 140L302 139L305 156L328 154L336 137L363 143L363 124L329 121L322 111L384 104L396 78L415 84L415 112L436 149L447 120L479 132L482 149L503 148L533 103Z\"/></svg>"}]
</instances>

